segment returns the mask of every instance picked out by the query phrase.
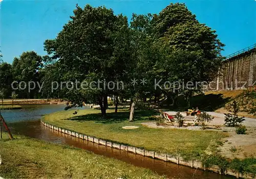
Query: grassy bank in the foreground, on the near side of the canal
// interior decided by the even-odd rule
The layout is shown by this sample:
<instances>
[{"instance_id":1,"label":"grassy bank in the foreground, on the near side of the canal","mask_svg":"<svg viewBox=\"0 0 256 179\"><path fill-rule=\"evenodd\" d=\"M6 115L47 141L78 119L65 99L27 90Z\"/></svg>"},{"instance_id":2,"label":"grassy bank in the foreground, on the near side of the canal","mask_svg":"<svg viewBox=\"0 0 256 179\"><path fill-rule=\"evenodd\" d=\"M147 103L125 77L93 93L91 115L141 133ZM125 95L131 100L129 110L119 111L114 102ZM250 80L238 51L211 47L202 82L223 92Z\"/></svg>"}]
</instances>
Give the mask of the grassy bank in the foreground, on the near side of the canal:
<instances>
[{"instance_id":1,"label":"grassy bank in the foreground, on the near side of the canal","mask_svg":"<svg viewBox=\"0 0 256 179\"><path fill-rule=\"evenodd\" d=\"M153 171L86 150L14 136L0 139L4 178L164 178Z\"/></svg>"}]
</instances>

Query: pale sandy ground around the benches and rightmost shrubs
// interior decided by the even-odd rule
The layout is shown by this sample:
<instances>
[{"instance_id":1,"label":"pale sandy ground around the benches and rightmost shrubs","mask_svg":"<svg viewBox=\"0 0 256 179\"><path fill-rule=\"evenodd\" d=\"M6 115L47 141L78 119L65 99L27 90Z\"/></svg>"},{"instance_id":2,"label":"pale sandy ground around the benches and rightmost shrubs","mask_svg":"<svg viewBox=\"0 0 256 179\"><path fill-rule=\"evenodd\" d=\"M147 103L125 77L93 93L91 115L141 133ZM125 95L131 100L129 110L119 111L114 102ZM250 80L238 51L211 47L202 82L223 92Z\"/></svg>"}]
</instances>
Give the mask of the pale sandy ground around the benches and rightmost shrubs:
<instances>
[{"instance_id":1,"label":"pale sandy ground around the benches and rightmost shrubs","mask_svg":"<svg viewBox=\"0 0 256 179\"><path fill-rule=\"evenodd\" d=\"M174 112L167 112L173 114ZM223 145L219 147L221 154L227 158L246 158L256 156L256 119L245 118L244 125L246 125L247 132L245 135L236 134L234 127L224 126L224 114L216 112L208 112L208 114L215 116L215 119L209 125L207 131L218 131L228 133L229 137L223 139ZM147 127L161 128L161 129L181 129L181 130L202 130L200 126L177 127L173 125L157 126L155 121L142 122Z\"/></svg>"}]
</instances>

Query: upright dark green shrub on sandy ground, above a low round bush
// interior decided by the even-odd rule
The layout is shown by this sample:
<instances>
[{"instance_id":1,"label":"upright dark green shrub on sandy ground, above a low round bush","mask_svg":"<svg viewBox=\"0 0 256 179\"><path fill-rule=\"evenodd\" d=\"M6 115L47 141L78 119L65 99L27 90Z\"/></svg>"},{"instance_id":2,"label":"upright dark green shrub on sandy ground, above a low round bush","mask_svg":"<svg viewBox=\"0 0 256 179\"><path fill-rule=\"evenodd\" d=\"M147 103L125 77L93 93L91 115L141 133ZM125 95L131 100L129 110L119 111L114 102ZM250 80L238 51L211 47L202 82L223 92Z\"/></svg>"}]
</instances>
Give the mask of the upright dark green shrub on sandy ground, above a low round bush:
<instances>
[{"instance_id":1,"label":"upright dark green shrub on sandy ground, above a low round bush","mask_svg":"<svg viewBox=\"0 0 256 179\"><path fill-rule=\"evenodd\" d=\"M237 101L233 100L233 103L230 104L231 109L230 113L225 113L225 125L229 127L236 127L241 125L241 123L245 120L244 117L238 117L239 107L237 105Z\"/></svg>"}]
</instances>

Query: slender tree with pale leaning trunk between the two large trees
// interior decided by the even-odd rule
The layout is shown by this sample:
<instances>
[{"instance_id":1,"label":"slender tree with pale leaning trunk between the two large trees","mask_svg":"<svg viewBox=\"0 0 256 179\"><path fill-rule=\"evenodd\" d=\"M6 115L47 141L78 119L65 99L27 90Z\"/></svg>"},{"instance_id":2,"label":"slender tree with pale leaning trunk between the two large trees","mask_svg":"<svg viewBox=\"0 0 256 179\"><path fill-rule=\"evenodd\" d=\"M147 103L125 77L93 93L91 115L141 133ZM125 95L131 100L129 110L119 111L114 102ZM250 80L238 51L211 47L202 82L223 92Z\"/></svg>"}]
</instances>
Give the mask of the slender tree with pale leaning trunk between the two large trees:
<instances>
[{"instance_id":1,"label":"slender tree with pale leaning trunk between the two large trees","mask_svg":"<svg viewBox=\"0 0 256 179\"><path fill-rule=\"evenodd\" d=\"M158 44L155 43L152 24L153 16L151 14L133 14L131 29L135 65L130 79L137 80L137 84L127 86L126 90L131 98L130 121L134 120L134 109L136 106L141 106L142 100L160 94L159 90L154 89L153 83L159 73L159 70L155 68L156 63L162 54L159 52Z\"/></svg>"}]
</instances>

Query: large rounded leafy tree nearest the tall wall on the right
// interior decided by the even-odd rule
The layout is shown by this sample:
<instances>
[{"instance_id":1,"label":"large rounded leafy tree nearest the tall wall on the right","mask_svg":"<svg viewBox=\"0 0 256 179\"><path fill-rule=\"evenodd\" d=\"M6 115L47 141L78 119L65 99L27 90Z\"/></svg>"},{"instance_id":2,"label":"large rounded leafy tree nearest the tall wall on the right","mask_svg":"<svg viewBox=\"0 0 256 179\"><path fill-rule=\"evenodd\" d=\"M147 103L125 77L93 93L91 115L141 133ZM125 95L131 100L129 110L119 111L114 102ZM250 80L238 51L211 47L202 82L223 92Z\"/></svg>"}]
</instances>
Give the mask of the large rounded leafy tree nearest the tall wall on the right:
<instances>
[{"instance_id":1,"label":"large rounded leafy tree nearest the tall wall on the right","mask_svg":"<svg viewBox=\"0 0 256 179\"><path fill-rule=\"evenodd\" d=\"M184 4L170 4L153 17L155 40L168 54L161 63L168 67L165 79L194 84L193 87L164 92L174 99L178 94L184 94L189 106L191 95L202 91L202 85L196 88L196 82L209 82L215 78L223 59L221 50L224 44L216 31L200 23Z\"/></svg>"}]
</instances>

